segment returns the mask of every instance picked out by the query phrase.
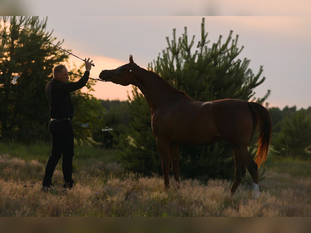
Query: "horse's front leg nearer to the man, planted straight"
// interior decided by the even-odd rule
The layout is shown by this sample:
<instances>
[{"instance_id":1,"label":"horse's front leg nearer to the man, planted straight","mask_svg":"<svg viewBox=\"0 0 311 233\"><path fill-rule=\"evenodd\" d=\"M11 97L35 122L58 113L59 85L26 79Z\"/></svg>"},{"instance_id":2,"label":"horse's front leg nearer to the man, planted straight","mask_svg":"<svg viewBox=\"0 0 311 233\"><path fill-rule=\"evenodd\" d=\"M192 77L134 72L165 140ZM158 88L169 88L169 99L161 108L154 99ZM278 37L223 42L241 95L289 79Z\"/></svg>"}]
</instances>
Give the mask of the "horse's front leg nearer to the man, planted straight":
<instances>
[{"instance_id":1,"label":"horse's front leg nearer to the man, planted straight","mask_svg":"<svg viewBox=\"0 0 311 233\"><path fill-rule=\"evenodd\" d=\"M156 145L161 156L164 185L169 188L169 143L157 137Z\"/></svg>"}]
</instances>

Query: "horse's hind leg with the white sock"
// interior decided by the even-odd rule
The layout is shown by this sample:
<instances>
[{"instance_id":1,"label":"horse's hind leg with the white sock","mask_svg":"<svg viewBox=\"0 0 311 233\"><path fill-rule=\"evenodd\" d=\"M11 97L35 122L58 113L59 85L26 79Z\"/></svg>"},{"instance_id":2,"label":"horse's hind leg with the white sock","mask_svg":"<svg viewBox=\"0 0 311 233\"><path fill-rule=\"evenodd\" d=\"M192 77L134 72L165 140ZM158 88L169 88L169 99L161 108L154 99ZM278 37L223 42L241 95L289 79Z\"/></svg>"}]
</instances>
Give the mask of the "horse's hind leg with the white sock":
<instances>
[{"instance_id":1,"label":"horse's hind leg with the white sock","mask_svg":"<svg viewBox=\"0 0 311 233\"><path fill-rule=\"evenodd\" d=\"M234 152L237 153L240 161L246 167L247 171L252 177L253 180L253 192L254 197L259 197L259 188L258 188L258 165L254 162L250 154L248 153L247 147L243 149L234 149Z\"/></svg>"}]
</instances>

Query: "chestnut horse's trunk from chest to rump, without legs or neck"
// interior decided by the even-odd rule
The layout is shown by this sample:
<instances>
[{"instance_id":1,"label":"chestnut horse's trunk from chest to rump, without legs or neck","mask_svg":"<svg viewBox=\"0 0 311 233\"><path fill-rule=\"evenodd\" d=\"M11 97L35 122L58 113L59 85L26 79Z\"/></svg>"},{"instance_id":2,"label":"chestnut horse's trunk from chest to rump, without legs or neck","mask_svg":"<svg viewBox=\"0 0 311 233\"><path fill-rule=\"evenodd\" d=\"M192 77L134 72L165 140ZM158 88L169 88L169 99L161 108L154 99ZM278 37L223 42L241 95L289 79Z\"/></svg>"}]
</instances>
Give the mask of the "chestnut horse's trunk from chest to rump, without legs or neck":
<instances>
[{"instance_id":1,"label":"chestnut horse's trunk from chest to rump, without legs or neck","mask_svg":"<svg viewBox=\"0 0 311 233\"><path fill-rule=\"evenodd\" d=\"M238 99L172 101L152 113L155 136L172 143L204 145L232 135L249 140L252 125L248 102Z\"/></svg>"}]
</instances>

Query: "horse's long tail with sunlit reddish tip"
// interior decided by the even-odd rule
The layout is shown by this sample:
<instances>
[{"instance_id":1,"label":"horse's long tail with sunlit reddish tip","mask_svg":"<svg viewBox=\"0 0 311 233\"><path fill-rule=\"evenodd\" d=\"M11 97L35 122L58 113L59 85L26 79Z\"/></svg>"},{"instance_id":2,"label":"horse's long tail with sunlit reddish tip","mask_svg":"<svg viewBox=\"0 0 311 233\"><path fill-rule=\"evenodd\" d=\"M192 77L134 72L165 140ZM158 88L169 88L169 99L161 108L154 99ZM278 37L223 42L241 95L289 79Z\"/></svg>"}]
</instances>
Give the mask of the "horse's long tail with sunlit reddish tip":
<instances>
[{"instance_id":1,"label":"horse's long tail with sunlit reddish tip","mask_svg":"<svg viewBox=\"0 0 311 233\"><path fill-rule=\"evenodd\" d=\"M252 136L259 125L259 139L257 141L258 150L255 156L255 162L258 167L266 161L269 144L272 134L271 116L268 110L259 103L248 102L248 107L253 115Z\"/></svg>"}]
</instances>

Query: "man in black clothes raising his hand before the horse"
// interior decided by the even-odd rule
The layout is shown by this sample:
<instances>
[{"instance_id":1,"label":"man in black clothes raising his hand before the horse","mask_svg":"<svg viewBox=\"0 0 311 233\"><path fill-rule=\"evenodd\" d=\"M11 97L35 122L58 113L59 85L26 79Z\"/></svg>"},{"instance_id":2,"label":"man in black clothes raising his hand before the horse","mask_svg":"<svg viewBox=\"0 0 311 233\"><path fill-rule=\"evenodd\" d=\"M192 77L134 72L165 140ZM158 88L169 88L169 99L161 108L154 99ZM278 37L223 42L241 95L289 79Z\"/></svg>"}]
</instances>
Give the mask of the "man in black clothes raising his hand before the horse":
<instances>
[{"instance_id":1,"label":"man in black clothes raising his hand before the horse","mask_svg":"<svg viewBox=\"0 0 311 233\"><path fill-rule=\"evenodd\" d=\"M57 65L53 68L53 79L46 85L46 96L50 106L49 131L52 137L52 152L45 168L41 191L48 191L52 185L52 176L58 160L63 153L64 188L72 188L72 157L73 128L71 119L73 108L70 92L84 87L89 80L92 62L85 59L85 73L77 82L67 83L69 79L67 68Z\"/></svg>"}]
</instances>

